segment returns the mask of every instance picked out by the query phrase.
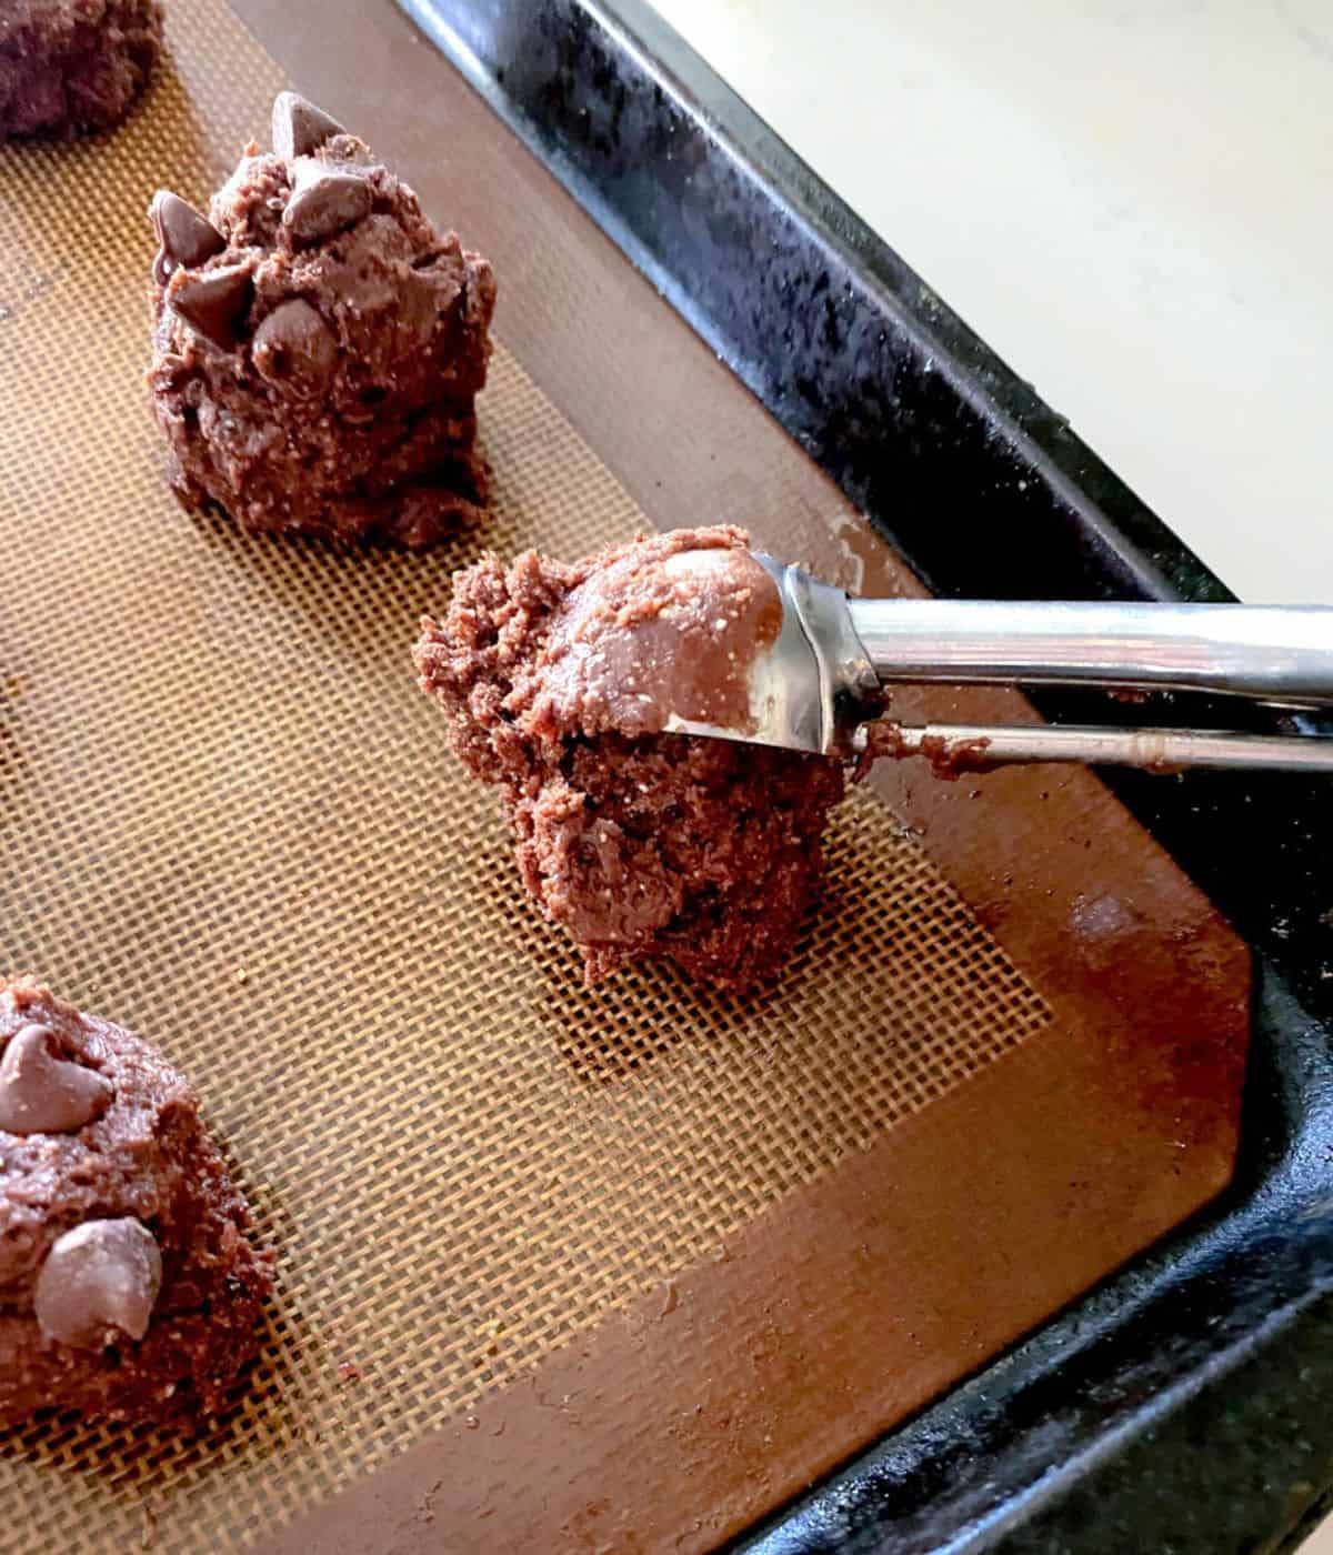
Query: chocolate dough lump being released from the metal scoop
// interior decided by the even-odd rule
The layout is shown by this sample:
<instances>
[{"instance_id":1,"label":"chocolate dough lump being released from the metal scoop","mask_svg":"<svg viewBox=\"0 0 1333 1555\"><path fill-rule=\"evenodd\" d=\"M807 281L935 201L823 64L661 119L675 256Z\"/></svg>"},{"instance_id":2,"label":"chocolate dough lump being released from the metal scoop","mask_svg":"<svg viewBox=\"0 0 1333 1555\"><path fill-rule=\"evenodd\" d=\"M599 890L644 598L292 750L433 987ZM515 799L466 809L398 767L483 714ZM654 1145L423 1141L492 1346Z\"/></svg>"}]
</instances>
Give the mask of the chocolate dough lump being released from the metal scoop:
<instances>
[{"instance_id":1,"label":"chocolate dough lump being released from the metal scoop","mask_svg":"<svg viewBox=\"0 0 1333 1555\"><path fill-rule=\"evenodd\" d=\"M672 568L698 550L717 561ZM723 987L775 977L818 893L840 765L658 732L683 697L734 711L754 645L776 630L776 596L747 552L740 530L706 529L572 566L485 555L454 577L443 622L422 622L422 689L467 768L499 787L523 880L582 947L590 981L644 956ZM630 619L649 622L639 648L616 636Z\"/></svg>"}]
</instances>

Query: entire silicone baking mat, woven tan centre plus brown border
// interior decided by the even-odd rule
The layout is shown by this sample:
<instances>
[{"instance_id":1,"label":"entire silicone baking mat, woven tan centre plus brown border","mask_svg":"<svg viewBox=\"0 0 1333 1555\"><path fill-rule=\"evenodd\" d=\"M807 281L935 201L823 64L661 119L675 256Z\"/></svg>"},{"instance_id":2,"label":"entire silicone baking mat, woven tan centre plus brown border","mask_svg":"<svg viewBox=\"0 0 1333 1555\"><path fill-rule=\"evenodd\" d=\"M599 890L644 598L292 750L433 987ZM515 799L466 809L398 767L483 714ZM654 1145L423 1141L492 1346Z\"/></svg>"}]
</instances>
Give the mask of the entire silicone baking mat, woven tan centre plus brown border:
<instances>
[{"instance_id":1,"label":"entire silicone baking mat, woven tan centre plus brown border","mask_svg":"<svg viewBox=\"0 0 1333 1555\"><path fill-rule=\"evenodd\" d=\"M355 9L173 5L114 137L0 149L0 970L152 1033L277 1250L210 1431L2 1438L6 1550L709 1547L1232 1169L1246 952L1087 773L880 764L775 991L583 986L415 687L450 574L729 519L913 585L397 8ZM495 266L490 507L426 555L247 536L165 480L146 208L205 207L288 86Z\"/></svg>"}]
</instances>

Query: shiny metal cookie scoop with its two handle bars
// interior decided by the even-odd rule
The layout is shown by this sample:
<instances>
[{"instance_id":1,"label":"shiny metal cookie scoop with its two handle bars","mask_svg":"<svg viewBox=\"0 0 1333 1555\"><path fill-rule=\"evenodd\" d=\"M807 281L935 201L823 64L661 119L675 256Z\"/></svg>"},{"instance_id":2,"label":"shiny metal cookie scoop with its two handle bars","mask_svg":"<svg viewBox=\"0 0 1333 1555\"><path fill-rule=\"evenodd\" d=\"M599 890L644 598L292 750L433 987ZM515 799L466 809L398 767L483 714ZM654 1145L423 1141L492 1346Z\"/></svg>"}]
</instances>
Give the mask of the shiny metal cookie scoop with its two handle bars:
<instances>
[{"instance_id":1,"label":"shiny metal cookie scoop with its two handle bars","mask_svg":"<svg viewBox=\"0 0 1333 1555\"><path fill-rule=\"evenodd\" d=\"M680 558L686 561L689 552ZM666 728L795 751L855 754L883 718L883 684L1095 686L1195 690L1282 708L1333 704L1333 606L848 599L757 555L782 622L750 664L748 728ZM880 723L873 748L938 767L1093 762L1173 771L1333 771L1333 740L1202 729Z\"/></svg>"}]
</instances>

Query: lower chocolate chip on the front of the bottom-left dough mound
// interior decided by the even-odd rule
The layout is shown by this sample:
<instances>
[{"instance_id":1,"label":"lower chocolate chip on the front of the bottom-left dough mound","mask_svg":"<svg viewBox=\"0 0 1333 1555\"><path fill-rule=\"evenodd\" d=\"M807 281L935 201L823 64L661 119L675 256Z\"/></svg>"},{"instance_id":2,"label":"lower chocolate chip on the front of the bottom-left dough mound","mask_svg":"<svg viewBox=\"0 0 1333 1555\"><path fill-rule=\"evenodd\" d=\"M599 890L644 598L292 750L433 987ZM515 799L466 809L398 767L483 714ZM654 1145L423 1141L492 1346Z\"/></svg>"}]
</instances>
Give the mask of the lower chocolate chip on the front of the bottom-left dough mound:
<instances>
[{"instance_id":1,"label":"lower chocolate chip on the front of the bottom-left dough mound","mask_svg":"<svg viewBox=\"0 0 1333 1555\"><path fill-rule=\"evenodd\" d=\"M48 1339L101 1350L143 1339L160 1289L162 1253L146 1225L84 1221L47 1253L33 1306Z\"/></svg>"}]
</instances>

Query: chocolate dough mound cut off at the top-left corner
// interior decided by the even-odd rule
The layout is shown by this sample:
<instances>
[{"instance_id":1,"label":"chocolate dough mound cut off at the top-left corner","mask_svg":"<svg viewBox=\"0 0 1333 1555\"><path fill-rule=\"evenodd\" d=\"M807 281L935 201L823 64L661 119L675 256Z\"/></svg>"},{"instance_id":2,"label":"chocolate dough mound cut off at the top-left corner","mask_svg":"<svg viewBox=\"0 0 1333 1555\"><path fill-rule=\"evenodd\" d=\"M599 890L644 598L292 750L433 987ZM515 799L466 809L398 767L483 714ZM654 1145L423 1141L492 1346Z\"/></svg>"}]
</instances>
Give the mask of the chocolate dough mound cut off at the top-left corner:
<instances>
[{"instance_id":1,"label":"chocolate dough mound cut off at the top-left corner","mask_svg":"<svg viewBox=\"0 0 1333 1555\"><path fill-rule=\"evenodd\" d=\"M118 124L160 48L160 0L3 0L0 142Z\"/></svg>"}]
</instances>

